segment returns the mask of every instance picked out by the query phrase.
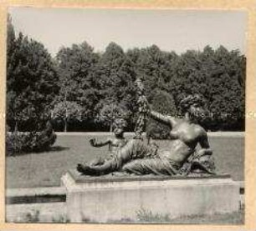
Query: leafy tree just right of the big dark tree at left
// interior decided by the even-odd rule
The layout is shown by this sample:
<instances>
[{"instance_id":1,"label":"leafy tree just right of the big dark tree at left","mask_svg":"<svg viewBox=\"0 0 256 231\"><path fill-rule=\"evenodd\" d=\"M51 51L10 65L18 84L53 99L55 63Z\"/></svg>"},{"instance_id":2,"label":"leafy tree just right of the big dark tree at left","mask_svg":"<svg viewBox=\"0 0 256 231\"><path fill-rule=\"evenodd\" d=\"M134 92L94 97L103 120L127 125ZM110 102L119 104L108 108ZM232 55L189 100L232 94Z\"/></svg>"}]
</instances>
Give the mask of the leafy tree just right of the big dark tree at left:
<instances>
[{"instance_id":1,"label":"leafy tree just right of the big dark tree at left","mask_svg":"<svg viewBox=\"0 0 256 231\"><path fill-rule=\"evenodd\" d=\"M84 119L93 117L97 95L90 76L99 55L86 42L61 48L56 60L59 74L59 97L56 102L75 102L83 107ZM69 105L69 103L64 103Z\"/></svg>"}]
</instances>

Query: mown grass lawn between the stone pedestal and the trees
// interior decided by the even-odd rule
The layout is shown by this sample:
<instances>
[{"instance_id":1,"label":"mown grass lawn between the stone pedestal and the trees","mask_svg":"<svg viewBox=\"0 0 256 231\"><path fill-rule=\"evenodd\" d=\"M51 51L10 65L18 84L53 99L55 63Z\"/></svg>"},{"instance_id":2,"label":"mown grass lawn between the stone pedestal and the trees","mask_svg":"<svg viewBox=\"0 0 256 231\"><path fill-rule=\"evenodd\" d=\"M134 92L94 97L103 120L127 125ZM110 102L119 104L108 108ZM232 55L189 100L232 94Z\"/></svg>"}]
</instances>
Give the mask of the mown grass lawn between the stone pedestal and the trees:
<instances>
[{"instance_id":1,"label":"mown grass lawn between the stone pedestal and the trees","mask_svg":"<svg viewBox=\"0 0 256 231\"><path fill-rule=\"evenodd\" d=\"M77 163L104 157L107 147L90 146L91 136L59 135L49 152L26 153L6 158L7 188L59 186L61 176ZM106 136L97 136L105 139ZM156 141L161 147L168 141ZM244 138L210 137L215 163L219 173L230 173L234 180L243 180Z\"/></svg>"}]
</instances>

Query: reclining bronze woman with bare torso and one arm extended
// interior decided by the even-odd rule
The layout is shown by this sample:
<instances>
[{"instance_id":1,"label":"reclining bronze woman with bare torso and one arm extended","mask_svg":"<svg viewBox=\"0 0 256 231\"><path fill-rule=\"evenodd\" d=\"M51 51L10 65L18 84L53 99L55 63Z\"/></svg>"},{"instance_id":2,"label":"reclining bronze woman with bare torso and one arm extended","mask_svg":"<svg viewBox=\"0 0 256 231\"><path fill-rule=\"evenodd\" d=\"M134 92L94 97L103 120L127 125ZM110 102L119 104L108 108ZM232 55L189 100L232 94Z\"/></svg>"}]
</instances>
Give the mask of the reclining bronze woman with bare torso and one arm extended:
<instances>
[{"instance_id":1,"label":"reclining bronze woman with bare torso and one arm extended","mask_svg":"<svg viewBox=\"0 0 256 231\"><path fill-rule=\"evenodd\" d=\"M207 133L198 124L198 120L204 116L201 102L198 95L182 99L180 105L184 112L183 118L165 116L149 110L151 118L171 128L170 141L166 148L156 150L140 139L131 139L116 150L113 158L103 164L95 166L89 163L79 164L77 170L87 175L101 175L116 171L175 175L180 173L183 164L193 156L194 163L203 168L204 172L214 173L212 149L208 143ZM196 153L197 144L201 149Z\"/></svg>"}]
</instances>

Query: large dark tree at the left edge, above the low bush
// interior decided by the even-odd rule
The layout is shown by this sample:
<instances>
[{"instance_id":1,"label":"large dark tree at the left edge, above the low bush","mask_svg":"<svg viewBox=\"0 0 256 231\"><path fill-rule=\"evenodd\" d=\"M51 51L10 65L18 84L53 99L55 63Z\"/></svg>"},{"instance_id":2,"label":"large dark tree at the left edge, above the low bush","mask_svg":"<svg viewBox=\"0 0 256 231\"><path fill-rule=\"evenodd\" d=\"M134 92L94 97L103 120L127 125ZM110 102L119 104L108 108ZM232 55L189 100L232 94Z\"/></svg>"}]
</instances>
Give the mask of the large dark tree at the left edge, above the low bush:
<instances>
[{"instance_id":1,"label":"large dark tree at the left edge, above the low bush","mask_svg":"<svg viewBox=\"0 0 256 231\"><path fill-rule=\"evenodd\" d=\"M44 45L23 37L15 38L8 21L7 121L25 130L40 129L59 88L54 63Z\"/></svg>"}]
</instances>

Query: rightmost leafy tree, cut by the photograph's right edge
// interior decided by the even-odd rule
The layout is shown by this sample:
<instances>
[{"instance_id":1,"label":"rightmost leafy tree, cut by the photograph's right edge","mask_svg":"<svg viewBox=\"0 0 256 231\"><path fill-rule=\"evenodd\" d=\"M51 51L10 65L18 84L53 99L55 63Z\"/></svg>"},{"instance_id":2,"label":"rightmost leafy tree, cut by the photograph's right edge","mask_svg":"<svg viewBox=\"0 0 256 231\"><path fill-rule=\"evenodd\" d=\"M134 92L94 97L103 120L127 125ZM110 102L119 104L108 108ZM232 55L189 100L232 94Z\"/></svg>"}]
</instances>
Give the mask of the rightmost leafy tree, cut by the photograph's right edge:
<instances>
[{"instance_id":1,"label":"rightmost leafy tree, cut by the photograph's right edge","mask_svg":"<svg viewBox=\"0 0 256 231\"><path fill-rule=\"evenodd\" d=\"M220 124L221 129L235 128L244 120L244 86L238 82L245 76L243 56L238 51L228 52L221 46L215 52L214 63L217 67L207 78L207 99L212 120ZM243 124L239 126L243 127Z\"/></svg>"}]
</instances>

